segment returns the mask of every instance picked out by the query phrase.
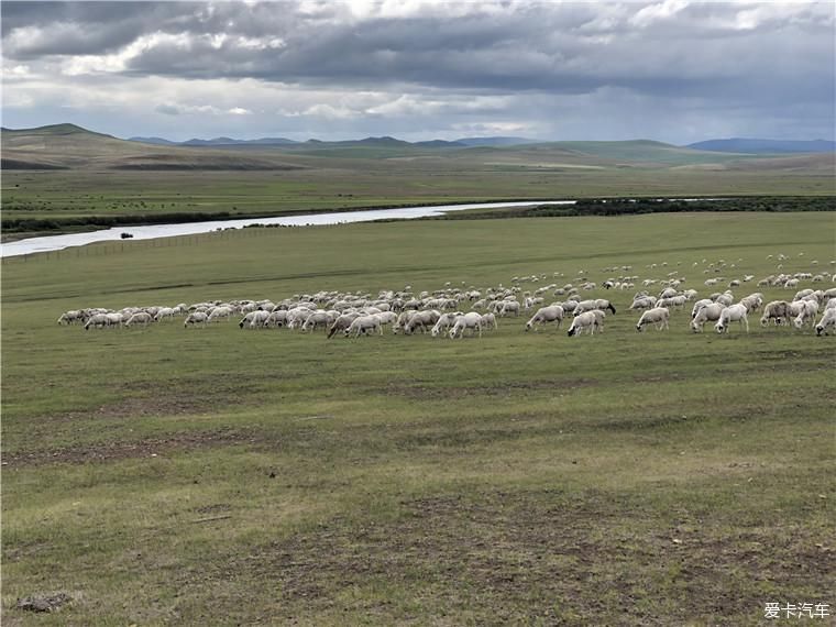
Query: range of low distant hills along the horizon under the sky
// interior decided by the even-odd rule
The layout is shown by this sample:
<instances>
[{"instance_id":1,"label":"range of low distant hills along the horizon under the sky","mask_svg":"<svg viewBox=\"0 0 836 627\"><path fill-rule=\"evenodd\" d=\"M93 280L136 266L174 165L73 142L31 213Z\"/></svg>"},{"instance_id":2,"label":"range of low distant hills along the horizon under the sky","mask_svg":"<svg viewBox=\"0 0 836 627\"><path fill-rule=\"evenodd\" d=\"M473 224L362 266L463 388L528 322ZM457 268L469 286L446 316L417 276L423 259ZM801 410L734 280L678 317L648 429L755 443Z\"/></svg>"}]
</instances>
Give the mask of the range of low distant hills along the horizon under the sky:
<instances>
[{"instance_id":1,"label":"range of low distant hills along the horizon under the sky","mask_svg":"<svg viewBox=\"0 0 836 627\"><path fill-rule=\"evenodd\" d=\"M142 141L136 141L136 140ZM405 142L365 138L340 142L285 138L239 140L215 138L172 142L163 138L120 140L75 124L36 129L2 129L2 163L7 169L311 169L352 160L409 160L455 167L566 173L625 167L697 170L794 170L833 173L833 142L718 140L680 147L650 140L617 142L542 142L525 138L462 138L455 141ZM741 142L755 142L741 143ZM701 150L695 150L701 148ZM706 148L716 148L716 152ZM734 151L734 152L725 152ZM759 152L745 152L759 151ZM781 154L783 151L784 154ZM799 151L803 151L800 153ZM815 152L825 151L825 152ZM321 160L321 161L319 161ZM338 160L338 161L334 161Z\"/></svg>"}]
</instances>

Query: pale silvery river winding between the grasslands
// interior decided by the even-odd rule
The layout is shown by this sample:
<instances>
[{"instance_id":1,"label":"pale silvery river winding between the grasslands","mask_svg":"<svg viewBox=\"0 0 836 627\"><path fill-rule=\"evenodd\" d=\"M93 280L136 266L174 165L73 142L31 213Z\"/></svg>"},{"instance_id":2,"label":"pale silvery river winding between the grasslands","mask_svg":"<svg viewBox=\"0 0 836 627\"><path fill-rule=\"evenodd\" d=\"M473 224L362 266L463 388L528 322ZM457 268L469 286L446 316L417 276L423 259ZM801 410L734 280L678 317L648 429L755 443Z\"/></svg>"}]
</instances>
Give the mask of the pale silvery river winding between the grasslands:
<instances>
[{"instance_id":1,"label":"pale silvery river winding between the grasslands","mask_svg":"<svg viewBox=\"0 0 836 627\"><path fill-rule=\"evenodd\" d=\"M176 224L151 224L147 227L114 227L101 231L69 233L66 235L46 235L28 238L0 245L0 257L62 251L70 246L84 246L94 242L121 240L122 233L131 233L134 240L155 238L175 238L177 235L196 235L218 229L241 229L249 224L282 224L284 227L314 227L324 224L345 224L349 222L370 222L385 219L411 219L440 216L447 211L464 209L494 209L502 207L530 207L539 205L574 205L574 200L547 200L542 202L480 202L475 205L439 205L433 207L409 207L407 209L371 209L367 211L342 211L333 213L307 213L301 216L282 216L277 218L248 218L243 220L212 220L209 222L185 222Z\"/></svg>"}]
</instances>

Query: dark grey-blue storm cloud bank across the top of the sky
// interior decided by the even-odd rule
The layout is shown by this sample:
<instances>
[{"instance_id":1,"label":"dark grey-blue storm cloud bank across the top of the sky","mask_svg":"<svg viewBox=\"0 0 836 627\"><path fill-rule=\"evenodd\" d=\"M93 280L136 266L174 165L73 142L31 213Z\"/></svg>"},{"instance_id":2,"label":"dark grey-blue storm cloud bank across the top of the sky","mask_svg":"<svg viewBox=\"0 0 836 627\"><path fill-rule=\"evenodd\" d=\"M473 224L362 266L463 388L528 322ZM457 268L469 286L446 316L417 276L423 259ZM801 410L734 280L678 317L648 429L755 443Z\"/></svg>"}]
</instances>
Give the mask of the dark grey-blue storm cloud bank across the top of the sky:
<instances>
[{"instance_id":1,"label":"dark grey-blue storm cloud bank across the top of the sky","mask_svg":"<svg viewBox=\"0 0 836 627\"><path fill-rule=\"evenodd\" d=\"M833 19L826 11L799 10L789 22L767 12L751 29L735 30L733 20L745 6L512 4L452 18L436 11L360 19L339 3L305 8L3 3L6 54L30 61L112 54L139 44L122 72L297 84L554 92L713 88L725 95L745 91L759 74L778 73L799 86L815 76L807 89L833 91L833 73L822 72L833 67ZM739 70L729 75L729 67Z\"/></svg>"}]
</instances>

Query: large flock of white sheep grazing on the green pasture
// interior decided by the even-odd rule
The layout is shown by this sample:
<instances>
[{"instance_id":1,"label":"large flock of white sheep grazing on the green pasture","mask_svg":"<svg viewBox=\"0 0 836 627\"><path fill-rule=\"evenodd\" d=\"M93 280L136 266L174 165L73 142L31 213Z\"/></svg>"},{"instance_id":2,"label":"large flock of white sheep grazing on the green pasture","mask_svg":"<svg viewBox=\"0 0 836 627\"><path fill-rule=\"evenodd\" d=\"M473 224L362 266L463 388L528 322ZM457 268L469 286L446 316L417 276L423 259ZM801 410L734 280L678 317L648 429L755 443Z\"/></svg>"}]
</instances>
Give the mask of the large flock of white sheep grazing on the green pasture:
<instances>
[{"instance_id":1,"label":"large flock of white sheep grazing on the green pasture","mask_svg":"<svg viewBox=\"0 0 836 627\"><path fill-rule=\"evenodd\" d=\"M771 256L771 255L770 255ZM785 260L779 255L779 261ZM705 264L703 260L703 264ZM815 262L812 262L816 265ZM834 262L831 262L834 263ZM667 264L661 264L666 266ZM694 266L698 265L697 262ZM658 268L660 264L648 267ZM724 270L733 270L735 264L725 261L708 263L703 271L705 274L719 274ZM781 267L779 265L779 267ZM537 288L525 288L525 284L536 284L546 279L546 275L514 277L509 287L451 287L433 293L415 294L410 286L403 290L382 290L376 296L360 293L317 292L315 294L295 295L274 302L272 300L231 300L207 301L196 304L180 302L174 307L125 307L113 311L101 308L88 308L65 311L59 318L59 324L82 324L87 329L147 327L152 323L165 322L175 318L184 319L184 327L206 327L222 320L238 320L241 329L298 329L311 332L321 329L328 338L338 333L344 337L383 334L384 328L391 328L393 333L413 334L418 331L429 332L432 337L447 336L450 339L463 338L465 334L482 337L483 331L497 328L498 318L518 317L520 314L534 311L525 330L537 330L540 326L550 324L560 328L564 318L571 316L572 322L568 336L580 336L584 332L594 334L604 329L607 312L615 315L615 306L606 298L582 298L582 292L598 289L625 290L636 289L638 276L624 273L631 266L604 268L607 273L620 273L607 278L601 285L588 279L587 273L580 272L579 276L563 286L557 283ZM562 276L554 273L553 276ZM553 277L552 277L553 278ZM706 287L721 284L727 286L725 292L715 292L706 298L697 299L696 289L680 289L685 282L680 272L671 272L666 278L646 278L640 283L629 309L641 311L636 329L642 331L653 326L658 330L669 328L672 311L684 310L686 304L691 307L690 328L702 332L706 323L714 324L718 333L726 333L729 327L737 322L749 331L749 316L761 312L762 326L780 324L804 329L815 328L817 336L828 334L831 328L836 328L836 288L798 290L791 300L772 300L763 302L759 292L735 301L732 288L740 287L755 277L745 275L739 279L727 279L713 276L704 282ZM759 287L795 289L802 282L836 283L836 275L829 276L813 273L776 274L757 283ZM534 287L534 286L532 286ZM651 294L651 290L657 294ZM546 298L560 298L546 305ZM470 311L463 309L470 308ZM816 317L821 318L816 322Z\"/></svg>"}]
</instances>

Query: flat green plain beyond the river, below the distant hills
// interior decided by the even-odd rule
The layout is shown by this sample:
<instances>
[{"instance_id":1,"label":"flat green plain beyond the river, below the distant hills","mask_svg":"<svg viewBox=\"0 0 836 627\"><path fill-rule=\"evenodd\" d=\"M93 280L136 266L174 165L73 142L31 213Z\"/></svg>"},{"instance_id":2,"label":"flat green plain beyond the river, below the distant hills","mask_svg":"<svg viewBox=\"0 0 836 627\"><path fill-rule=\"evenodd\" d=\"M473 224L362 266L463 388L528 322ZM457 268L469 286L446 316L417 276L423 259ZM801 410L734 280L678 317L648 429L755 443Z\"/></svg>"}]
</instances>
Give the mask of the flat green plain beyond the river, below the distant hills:
<instances>
[{"instance_id":1,"label":"flat green plain beyond the river, below the distant hills","mask_svg":"<svg viewBox=\"0 0 836 627\"><path fill-rule=\"evenodd\" d=\"M349 161L293 172L3 173L6 219L229 212L278 215L358 207L565 199L606 196L832 195L815 173L704 172L658 168L538 168L455 162L403 167ZM339 165L339 164L337 164Z\"/></svg>"}]
</instances>

